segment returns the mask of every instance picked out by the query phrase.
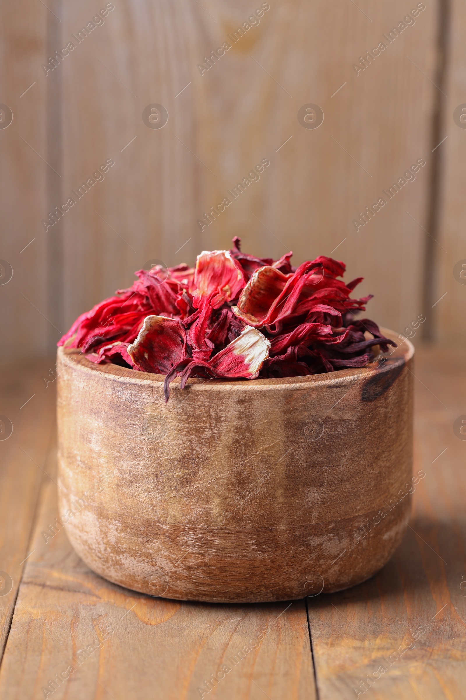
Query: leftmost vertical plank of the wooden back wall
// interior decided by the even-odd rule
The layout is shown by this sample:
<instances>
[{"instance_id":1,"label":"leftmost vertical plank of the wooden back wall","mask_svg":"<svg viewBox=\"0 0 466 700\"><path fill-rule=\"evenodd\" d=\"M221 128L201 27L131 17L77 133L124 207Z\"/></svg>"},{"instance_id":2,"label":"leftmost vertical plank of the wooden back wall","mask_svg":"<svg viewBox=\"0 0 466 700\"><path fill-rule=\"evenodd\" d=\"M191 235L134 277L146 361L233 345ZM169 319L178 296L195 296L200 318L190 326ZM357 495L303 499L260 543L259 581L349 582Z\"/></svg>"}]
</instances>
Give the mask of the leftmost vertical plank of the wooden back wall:
<instances>
[{"instance_id":1,"label":"leftmost vertical plank of the wooden back wall","mask_svg":"<svg viewBox=\"0 0 466 700\"><path fill-rule=\"evenodd\" d=\"M48 165L45 133L47 83L44 3L1 3L0 102L0 356L45 353L48 338L45 216ZM13 121L8 125L8 115ZM0 263L1 264L1 263ZM13 277L10 276L13 269ZM8 342L6 339L8 338Z\"/></svg>"}]
</instances>

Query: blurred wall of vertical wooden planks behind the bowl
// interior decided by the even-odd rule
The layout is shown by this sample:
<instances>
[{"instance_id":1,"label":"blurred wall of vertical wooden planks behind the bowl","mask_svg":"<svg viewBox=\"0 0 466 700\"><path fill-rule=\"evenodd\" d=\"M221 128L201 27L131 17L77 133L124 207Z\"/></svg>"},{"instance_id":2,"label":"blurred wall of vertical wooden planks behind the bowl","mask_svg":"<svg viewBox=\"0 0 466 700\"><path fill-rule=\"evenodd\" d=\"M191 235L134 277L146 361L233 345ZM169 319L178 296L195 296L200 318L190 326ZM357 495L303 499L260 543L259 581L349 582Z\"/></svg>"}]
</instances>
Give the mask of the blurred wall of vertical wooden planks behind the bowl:
<instances>
[{"instance_id":1,"label":"blurred wall of vertical wooden planks behind the bowl","mask_svg":"<svg viewBox=\"0 0 466 700\"><path fill-rule=\"evenodd\" d=\"M201 75L204 57L263 4L259 24ZM464 338L466 130L453 113L466 103L466 8L426 0L406 26L421 6L3 3L0 103L13 111L0 128L0 258L13 267L0 285L3 356L50 352L147 260L193 264L234 235L258 255L291 249L295 263L331 254L347 262L348 279L365 277L367 315L381 325L405 332L424 314L432 337ZM46 76L42 64L68 41L75 49ZM386 49L356 75L381 41ZM150 104L168 111L161 129L143 121ZM305 104L323 110L319 128L298 121ZM263 158L261 179L201 231L203 213ZM41 221L106 159L115 165L105 179L45 232ZM356 232L353 220L418 159L416 179Z\"/></svg>"}]
</instances>

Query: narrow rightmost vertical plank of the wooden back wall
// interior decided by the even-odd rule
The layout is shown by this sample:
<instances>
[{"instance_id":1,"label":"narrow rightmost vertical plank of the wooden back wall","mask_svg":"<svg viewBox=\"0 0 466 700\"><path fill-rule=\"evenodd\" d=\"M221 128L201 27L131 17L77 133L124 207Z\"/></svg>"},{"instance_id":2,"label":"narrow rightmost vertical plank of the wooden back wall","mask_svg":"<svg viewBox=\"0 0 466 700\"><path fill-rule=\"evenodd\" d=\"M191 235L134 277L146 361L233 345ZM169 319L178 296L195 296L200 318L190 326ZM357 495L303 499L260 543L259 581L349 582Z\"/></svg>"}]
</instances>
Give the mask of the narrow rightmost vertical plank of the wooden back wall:
<instances>
[{"instance_id":1,"label":"narrow rightmost vertical plank of the wooden back wall","mask_svg":"<svg viewBox=\"0 0 466 700\"><path fill-rule=\"evenodd\" d=\"M442 183L439 192L441 221L436 245L435 313L437 337L465 339L466 337L466 212L463 195L463 179L466 157L466 109L465 79L461 66L465 63L464 33L466 6L461 0L450 0L449 36L447 50L447 80L442 96ZM461 274L463 273L463 274Z\"/></svg>"}]
</instances>

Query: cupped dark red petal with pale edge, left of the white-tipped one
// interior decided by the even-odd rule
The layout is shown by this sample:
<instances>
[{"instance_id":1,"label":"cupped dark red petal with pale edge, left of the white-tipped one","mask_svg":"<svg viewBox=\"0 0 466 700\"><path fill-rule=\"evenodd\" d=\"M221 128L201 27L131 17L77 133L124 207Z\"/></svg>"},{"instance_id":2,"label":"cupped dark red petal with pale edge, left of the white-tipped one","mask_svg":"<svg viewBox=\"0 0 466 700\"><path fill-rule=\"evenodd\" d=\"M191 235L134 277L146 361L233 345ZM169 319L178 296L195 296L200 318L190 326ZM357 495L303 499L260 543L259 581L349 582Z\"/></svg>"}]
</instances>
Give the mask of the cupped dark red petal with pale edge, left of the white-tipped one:
<instances>
[{"instance_id":1,"label":"cupped dark red petal with pale edge, left of the white-tipped one","mask_svg":"<svg viewBox=\"0 0 466 700\"><path fill-rule=\"evenodd\" d=\"M187 357L184 328L176 318L147 316L128 354L143 372L166 374Z\"/></svg>"}]
</instances>

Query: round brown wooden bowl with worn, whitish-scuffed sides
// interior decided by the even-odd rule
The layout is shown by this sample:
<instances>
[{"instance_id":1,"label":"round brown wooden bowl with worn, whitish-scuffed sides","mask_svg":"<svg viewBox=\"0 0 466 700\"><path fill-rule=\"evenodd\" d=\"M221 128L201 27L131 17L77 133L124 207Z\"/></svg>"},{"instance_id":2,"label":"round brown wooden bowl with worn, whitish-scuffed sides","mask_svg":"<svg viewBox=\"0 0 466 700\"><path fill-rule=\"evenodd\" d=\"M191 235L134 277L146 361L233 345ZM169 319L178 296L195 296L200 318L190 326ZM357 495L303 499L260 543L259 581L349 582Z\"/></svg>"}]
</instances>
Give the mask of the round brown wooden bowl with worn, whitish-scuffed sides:
<instances>
[{"instance_id":1,"label":"round brown wooden bowl with worn, whitish-scuffed sides","mask_svg":"<svg viewBox=\"0 0 466 700\"><path fill-rule=\"evenodd\" d=\"M164 598L280 601L364 581L409 519L413 355L406 340L363 369L177 380L166 404L162 376L59 349L71 544Z\"/></svg>"}]
</instances>

